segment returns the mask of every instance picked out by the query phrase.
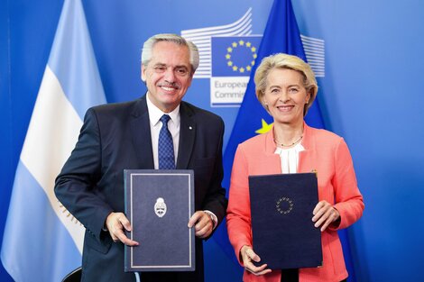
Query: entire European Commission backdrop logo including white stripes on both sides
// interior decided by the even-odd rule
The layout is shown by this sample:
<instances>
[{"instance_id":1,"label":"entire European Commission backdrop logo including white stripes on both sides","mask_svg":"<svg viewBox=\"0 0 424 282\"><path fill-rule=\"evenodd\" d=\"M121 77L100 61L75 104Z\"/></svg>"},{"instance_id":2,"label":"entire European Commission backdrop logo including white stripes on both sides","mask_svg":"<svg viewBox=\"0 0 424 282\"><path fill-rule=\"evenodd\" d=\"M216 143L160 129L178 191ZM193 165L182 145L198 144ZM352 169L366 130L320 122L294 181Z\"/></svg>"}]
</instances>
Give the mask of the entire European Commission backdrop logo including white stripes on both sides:
<instances>
[{"instance_id":1,"label":"entire European Commission backdrop logo including white stripes on both sides","mask_svg":"<svg viewBox=\"0 0 424 282\"><path fill-rule=\"evenodd\" d=\"M243 102L262 35L253 35L252 8L234 23L181 31L198 46L200 62L194 78L210 79L210 105L237 107ZM324 41L300 35L317 77L325 76Z\"/></svg>"}]
</instances>

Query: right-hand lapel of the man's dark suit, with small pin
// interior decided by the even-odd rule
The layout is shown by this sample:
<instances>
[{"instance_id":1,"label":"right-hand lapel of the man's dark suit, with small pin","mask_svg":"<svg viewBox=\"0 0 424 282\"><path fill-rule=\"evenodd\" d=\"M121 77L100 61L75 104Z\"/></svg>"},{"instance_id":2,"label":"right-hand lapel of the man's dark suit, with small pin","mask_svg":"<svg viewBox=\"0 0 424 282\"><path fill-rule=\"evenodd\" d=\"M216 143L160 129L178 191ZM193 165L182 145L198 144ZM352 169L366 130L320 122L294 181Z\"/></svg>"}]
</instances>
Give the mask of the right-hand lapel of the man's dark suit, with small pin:
<instances>
[{"instance_id":1,"label":"right-hand lapel of the man's dark suit, with small pin","mask_svg":"<svg viewBox=\"0 0 424 282\"><path fill-rule=\"evenodd\" d=\"M180 145L178 149L177 169L189 168L189 160L196 137L194 113L184 103L180 104ZM151 146L152 147L152 146Z\"/></svg>"}]
</instances>

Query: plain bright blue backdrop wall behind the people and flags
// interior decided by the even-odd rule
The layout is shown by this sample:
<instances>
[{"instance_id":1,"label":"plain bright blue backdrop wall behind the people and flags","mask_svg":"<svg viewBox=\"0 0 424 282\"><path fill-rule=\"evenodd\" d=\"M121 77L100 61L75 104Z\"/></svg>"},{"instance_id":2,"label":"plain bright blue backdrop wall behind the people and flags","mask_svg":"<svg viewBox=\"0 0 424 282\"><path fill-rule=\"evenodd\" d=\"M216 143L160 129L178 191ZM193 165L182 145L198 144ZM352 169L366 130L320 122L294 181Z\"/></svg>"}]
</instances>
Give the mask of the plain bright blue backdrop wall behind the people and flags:
<instances>
[{"instance_id":1,"label":"plain bright blue backdrop wall behind the people and flags","mask_svg":"<svg viewBox=\"0 0 424 282\"><path fill-rule=\"evenodd\" d=\"M41 77L63 1L0 2L0 240ZM83 1L108 102L143 95L140 50L157 32L230 25L251 9L262 34L272 0ZM424 3L293 1L300 33L324 42L318 102L327 129L345 137L364 194L364 217L348 229L357 281L422 281L424 189ZM210 106L210 78L186 100L223 116L226 141L236 107ZM226 171L226 173L229 173ZM215 241L206 243L207 281L240 280ZM0 280L11 281L0 267Z\"/></svg>"}]
</instances>

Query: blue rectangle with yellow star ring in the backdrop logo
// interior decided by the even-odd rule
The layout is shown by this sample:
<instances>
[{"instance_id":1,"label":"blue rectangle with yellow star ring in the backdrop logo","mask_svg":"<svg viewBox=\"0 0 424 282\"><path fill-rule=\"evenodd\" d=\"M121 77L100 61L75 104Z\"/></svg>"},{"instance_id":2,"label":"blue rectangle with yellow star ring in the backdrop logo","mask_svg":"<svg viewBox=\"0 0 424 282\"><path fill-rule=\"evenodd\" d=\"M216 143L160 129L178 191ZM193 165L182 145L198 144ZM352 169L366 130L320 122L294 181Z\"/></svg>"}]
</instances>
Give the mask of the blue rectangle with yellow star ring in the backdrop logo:
<instances>
[{"instance_id":1,"label":"blue rectangle with yellow star ring in the backdrop logo","mask_svg":"<svg viewBox=\"0 0 424 282\"><path fill-rule=\"evenodd\" d=\"M250 77L262 36L212 37L212 77Z\"/></svg>"}]
</instances>

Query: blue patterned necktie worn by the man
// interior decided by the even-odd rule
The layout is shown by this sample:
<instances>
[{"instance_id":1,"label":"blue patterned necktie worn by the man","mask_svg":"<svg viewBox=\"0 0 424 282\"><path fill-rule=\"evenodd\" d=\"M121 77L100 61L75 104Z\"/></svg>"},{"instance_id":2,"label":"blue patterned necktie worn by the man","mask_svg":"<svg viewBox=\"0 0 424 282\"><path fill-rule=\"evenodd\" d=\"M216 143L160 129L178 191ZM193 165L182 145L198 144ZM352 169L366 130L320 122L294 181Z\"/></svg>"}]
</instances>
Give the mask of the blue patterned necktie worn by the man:
<instances>
[{"instance_id":1,"label":"blue patterned necktie worn by the man","mask_svg":"<svg viewBox=\"0 0 424 282\"><path fill-rule=\"evenodd\" d=\"M168 114L161 116L161 132L159 132L158 159L159 169L174 169L174 143L171 132L168 130L168 122L171 117Z\"/></svg>"}]
</instances>

